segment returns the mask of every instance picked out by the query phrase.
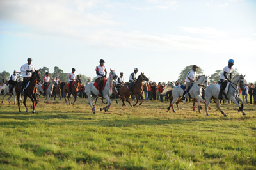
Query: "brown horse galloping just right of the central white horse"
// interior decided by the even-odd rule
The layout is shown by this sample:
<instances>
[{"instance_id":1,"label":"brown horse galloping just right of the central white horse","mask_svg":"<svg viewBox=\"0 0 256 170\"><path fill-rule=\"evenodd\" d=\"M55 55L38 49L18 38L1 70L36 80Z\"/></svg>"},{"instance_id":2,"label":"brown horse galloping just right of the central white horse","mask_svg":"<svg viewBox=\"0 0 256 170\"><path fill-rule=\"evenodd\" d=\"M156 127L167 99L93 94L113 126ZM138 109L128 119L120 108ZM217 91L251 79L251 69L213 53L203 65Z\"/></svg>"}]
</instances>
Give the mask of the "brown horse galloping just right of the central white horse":
<instances>
[{"instance_id":1,"label":"brown horse galloping just right of the central white horse","mask_svg":"<svg viewBox=\"0 0 256 170\"><path fill-rule=\"evenodd\" d=\"M146 75L144 75L144 73L141 73L141 75L138 76L138 79L135 82L134 86L132 87L132 93L135 95L136 100L137 100L136 104L134 104L133 106L136 106L139 102L138 95L140 95L140 97L142 99L142 101L139 105L141 105L143 103L143 100L144 100L144 98L142 96L142 93L143 93L143 84L142 84L142 82L143 81L149 81L149 79L146 77ZM130 95L131 95L129 93L129 86L128 85L122 86L122 88L120 88L120 93L122 95L122 102L123 102L122 105L126 107L126 105L124 103L124 99L126 98L126 102L128 102L132 107L132 104L129 100Z\"/></svg>"}]
</instances>

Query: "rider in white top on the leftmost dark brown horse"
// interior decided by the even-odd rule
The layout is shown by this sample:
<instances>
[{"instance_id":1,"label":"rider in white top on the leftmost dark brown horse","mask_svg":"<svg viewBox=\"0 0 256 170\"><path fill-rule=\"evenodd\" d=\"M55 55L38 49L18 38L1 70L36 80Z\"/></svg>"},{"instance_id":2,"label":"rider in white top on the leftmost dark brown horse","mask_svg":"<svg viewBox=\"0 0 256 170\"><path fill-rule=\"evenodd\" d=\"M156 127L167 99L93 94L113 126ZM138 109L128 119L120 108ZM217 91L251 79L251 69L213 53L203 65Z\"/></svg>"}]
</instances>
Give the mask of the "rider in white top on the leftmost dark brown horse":
<instances>
[{"instance_id":1,"label":"rider in white top on the leftmost dark brown horse","mask_svg":"<svg viewBox=\"0 0 256 170\"><path fill-rule=\"evenodd\" d=\"M20 84L20 87L23 88L23 91L21 93L22 95L24 95L24 90L25 90L25 87L28 83L29 77L31 77L32 72L35 72L34 65L31 64L32 58L28 58L27 61L28 61L28 63L22 65L21 68L20 68L20 72L21 72L21 75L23 77L23 81Z\"/></svg>"}]
</instances>

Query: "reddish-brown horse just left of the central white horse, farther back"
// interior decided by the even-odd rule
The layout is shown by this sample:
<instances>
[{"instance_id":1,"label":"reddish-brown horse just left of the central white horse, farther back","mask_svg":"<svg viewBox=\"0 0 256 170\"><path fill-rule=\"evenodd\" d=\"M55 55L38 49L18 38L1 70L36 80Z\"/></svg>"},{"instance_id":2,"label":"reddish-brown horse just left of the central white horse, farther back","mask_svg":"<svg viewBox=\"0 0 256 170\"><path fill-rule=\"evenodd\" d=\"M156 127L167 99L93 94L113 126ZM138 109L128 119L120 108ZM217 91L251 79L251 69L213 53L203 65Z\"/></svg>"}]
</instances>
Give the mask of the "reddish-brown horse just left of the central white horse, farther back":
<instances>
[{"instance_id":1,"label":"reddish-brown horse just left of the central white horse, farther back","mask_svg":"<svg viewBox=\"0 0 256 170\"><path fill-rule=\"evenodd\" d=\"M69 104L70 104L70 100L69 100L70 95L69 95L68 84L69 84L69 83L67 83L67 84L65 84L65 85L63 86L64 98L65 98L65 101L66 101L66 104L67 104L67 105L68 105L68 103L67 103L66 97L68 98L68 101L69 101ZM78 93L78 91L79 91L78 87L79 87L80 84L82 84L81 76L77 75L77 78L76 78L76 81L75 81L75 83L74 83L74 86L73 86L72 89L71 89L71 94L73 95L73 97L75 98L75 100L74 100L74 102L72 102L71 104L75 104L75 103L76 103L76 95L77 95L77 93Z\"/></svg>"}]
</instances>

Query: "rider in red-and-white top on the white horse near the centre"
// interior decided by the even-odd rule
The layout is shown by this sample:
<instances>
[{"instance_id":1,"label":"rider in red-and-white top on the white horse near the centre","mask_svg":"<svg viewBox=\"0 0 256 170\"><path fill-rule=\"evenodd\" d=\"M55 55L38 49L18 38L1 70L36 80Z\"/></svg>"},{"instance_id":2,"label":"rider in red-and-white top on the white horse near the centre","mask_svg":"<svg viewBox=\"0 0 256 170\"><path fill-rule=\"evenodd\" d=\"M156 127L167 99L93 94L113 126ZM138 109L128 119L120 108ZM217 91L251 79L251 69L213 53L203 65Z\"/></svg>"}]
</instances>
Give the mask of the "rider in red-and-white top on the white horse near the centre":
<instances>
[{"instance_id":1,"label":"rider in red-and-white top on the white horse near the centre","mask_svg":"<svg viewBox=\"0 0 256 170\"><path fill-rule=\"evenodd\" d=\"M98 83L98 87L99 87L99 96L102 96L102 86L104 84L104 82L102 80L104 80L107 77L107 70L106 67L104 65L105 61L104 59L100 59L100 65L96 66L96 74L97 74L97 79L96 79L96 83Z\"/></svg>"}]
</instances>

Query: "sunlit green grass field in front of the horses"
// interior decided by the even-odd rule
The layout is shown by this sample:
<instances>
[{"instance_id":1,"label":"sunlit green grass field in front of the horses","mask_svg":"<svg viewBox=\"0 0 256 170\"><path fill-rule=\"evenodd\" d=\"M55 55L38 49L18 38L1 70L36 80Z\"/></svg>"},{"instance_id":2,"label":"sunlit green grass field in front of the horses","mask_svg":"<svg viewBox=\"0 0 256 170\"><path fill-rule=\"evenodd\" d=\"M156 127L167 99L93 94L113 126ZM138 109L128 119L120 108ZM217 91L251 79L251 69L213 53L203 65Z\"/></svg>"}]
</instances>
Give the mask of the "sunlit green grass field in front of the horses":
<instances>
[{"instance_id":1,"label":"sunlit green grass field in front of the horses","mask_svg":"<svg viewBox=\"0 0 256 170\"><path fill-rule=\"evenodd\" d=\"M209 117L192 111L193 103L166 113L168 104L125 108L113 101L104 112L98 100L93 115L79 98L68 107L39 102L36 114L22 105L19 114L6 98L0 169L256 169L256 105L244 105L242 116L236 105L222 104L224 118L215 104Z\"/></svg>"}]
</instances>

